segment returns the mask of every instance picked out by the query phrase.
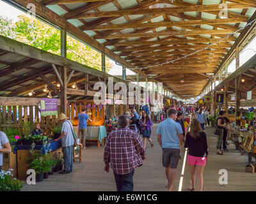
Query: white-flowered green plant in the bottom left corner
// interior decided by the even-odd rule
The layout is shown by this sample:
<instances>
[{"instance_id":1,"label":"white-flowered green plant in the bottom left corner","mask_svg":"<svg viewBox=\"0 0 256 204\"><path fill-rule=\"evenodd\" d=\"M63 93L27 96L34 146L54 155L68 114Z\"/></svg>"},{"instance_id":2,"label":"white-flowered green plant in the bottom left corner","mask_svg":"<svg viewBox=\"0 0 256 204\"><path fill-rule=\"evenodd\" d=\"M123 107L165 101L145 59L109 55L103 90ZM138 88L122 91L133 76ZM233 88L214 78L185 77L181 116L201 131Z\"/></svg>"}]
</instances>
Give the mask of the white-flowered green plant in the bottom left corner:
<instances>
[{"instance_id":1,"label":"white-flowered green plant in the bottom left corner","mask_svg":"<svg viewBox=\"0 0 256 204\"><path fill-rule=\"evenodd\" d=\"M24 182L13 179L12 172L13 169L8 171L0 171L0 191L20 191L22 189Z\"/></svg>"}]
</instances>

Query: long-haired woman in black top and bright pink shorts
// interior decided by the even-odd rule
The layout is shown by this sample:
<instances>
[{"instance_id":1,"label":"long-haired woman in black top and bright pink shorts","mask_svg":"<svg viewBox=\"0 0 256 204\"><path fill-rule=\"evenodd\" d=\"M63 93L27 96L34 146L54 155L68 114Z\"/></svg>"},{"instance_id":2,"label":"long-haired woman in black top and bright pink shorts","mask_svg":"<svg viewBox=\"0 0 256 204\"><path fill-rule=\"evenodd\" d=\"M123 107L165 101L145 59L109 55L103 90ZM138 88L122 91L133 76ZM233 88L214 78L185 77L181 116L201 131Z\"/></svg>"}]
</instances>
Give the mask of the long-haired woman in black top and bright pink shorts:
<instances>
[{"instance_id":1,"label":"long-haired woman in black top and bright pink shorts","mask_svg":"<svg viewBox=\"0 0 256 204\"><path fill-rule=\"evenodd\" d=\"M191 120L190 131L186 135L184 147L188 148L188 164L191 183L190 190L195 191L196 180L198 190L203 191L203 173L204 166L208 160L208 146L205 132L201 131L199 120Z\"/></svg>"}]
</instances>

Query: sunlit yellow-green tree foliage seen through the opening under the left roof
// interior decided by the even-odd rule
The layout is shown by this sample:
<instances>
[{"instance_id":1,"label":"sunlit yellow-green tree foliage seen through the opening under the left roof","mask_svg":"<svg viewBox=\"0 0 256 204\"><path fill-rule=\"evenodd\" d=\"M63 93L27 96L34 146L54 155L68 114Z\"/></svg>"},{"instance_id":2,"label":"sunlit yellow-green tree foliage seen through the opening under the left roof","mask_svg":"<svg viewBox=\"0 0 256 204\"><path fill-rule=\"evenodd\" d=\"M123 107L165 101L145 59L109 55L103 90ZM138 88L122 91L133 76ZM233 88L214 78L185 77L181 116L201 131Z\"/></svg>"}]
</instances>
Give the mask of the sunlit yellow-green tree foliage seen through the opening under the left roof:
<instances>
[{"instance_id":1,"label":"sunlit yellow-green tree foliage seen through the opening under the left roof","mask_svg":"<svg viewBox=\"0 0 256 204\"><path fill-rule=\"evenodd\" d=\"M35 18L19 15L19 20L13 23L12 20L0 16L0 34L60 55L60 31ZM70 36L67 36L67 58L101 70L101 54ZM113 66L106 57L106 72Z\"/></svg>"}]
</instances>

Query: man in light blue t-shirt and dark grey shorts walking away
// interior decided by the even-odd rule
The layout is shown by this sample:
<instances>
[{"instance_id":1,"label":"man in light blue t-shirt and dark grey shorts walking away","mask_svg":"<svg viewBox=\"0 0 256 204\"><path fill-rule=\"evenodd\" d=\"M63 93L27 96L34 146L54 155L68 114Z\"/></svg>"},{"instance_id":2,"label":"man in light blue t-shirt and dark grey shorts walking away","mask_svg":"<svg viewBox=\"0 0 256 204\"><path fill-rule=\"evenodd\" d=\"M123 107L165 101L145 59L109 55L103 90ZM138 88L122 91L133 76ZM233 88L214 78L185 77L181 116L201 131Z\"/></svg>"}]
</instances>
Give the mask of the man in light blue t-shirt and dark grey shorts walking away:
<instances>
[{"instance_id":1,"label":"man in light blue t-shirt and dark grey shorts walking away","mask_svg":"<svg viewBox=\"0 0 256 204\"><path fill-rule=\"evenodd\" d=\"M163 150L163 166L168 180L169 191L172 191L175 171L179 163L180 147L185 140L183 131L177 119L177 110L170 109L168 119L161 122L157 128L157 140Z\"/></svg>"}]
</instances>

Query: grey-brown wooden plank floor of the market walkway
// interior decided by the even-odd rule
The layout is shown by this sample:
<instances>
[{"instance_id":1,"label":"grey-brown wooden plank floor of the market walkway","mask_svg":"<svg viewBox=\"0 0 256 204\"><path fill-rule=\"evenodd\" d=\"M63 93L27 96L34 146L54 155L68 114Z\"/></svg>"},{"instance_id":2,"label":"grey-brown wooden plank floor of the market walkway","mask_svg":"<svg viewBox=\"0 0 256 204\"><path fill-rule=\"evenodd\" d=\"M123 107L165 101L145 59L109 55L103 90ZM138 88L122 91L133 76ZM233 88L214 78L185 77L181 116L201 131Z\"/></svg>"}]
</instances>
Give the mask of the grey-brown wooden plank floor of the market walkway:
<instances>
[{"instance_id":1,"label":"grey-brown wooden plank floor of the market walkway","mask_svg":"<svg viewBox=\"0 0 256 204\"><path fill-rule=\"evenodd\" d=\"M137 168L134 173L134 191L166 191L167 180L162 166L161 148L157 143L156 136L157 124L152 129L152 139L154 147L151 148L147 143L147 156L143 166ZM216 137L212 134L214 129L207 128L207 140L209 145L209 161L205 166L204 172L204 191L255 191L256 173L246 173L244 171L248 161L247 156L241 156L235 146L228 145L229 152L222 156L216 154ZM106 173L103 163L104 147L98 149L90 146L83 150L82 163L74 163L73 173L60 175L54 173L38 182L36 185L29 186L24 184L22 191L116 191L113 171ZM180 173L184 158L184 148L181 149L182 159L177 168L173 191L178 191ZM226 169L228 171L228 185L221 186L218 183L220 175L218 171ZM189 190L189 168L186 164L182 191Z\"/></svg>"}]
</instances>

